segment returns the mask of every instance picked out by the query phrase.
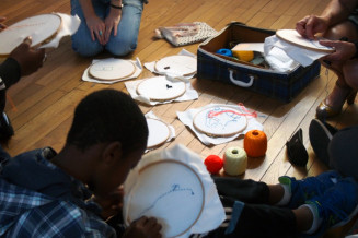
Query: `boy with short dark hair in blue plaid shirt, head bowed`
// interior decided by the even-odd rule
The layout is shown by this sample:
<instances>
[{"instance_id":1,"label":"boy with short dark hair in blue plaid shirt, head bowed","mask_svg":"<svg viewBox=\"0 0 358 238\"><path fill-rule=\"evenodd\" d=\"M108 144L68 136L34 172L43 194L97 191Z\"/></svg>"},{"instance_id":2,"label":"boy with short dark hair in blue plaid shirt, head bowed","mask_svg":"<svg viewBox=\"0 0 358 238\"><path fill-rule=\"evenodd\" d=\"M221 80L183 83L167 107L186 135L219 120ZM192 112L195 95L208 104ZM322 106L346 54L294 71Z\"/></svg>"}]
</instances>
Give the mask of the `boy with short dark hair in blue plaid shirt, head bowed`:
<instances>
[{"instance_id":1,"label":"boy with short dark hair in blue plaid shirt, head bowed","mask_svg":"<svg viewBox=\"0 0 358 238\"><path fill-rule=\"evenodd\" d=\"M137 104L125 93L102 90L77 106L58 154L45 147L10 158L1 150L0 236L116 237L101 215L120 209L120 193L113 191L141 158L147 139ZM141 217L125 237L161 237L160 229L155 218Z\"/></svg>"}]
</instances>

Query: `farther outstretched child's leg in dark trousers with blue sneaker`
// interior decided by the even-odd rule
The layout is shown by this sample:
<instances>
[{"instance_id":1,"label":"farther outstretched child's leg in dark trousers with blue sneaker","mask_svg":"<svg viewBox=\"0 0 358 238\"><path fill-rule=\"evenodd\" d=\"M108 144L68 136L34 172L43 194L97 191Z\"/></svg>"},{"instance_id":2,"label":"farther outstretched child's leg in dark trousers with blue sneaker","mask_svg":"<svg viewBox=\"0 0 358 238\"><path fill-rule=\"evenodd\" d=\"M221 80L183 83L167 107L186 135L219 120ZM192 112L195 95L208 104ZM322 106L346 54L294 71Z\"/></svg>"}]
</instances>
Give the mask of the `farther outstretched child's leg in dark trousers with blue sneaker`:
<instances>
[{"instance_id":1,"label":"farther outstretched child's leg in dark trousers with blue sneaker","mask_svg":"<svg viewBox=\"0 0 358 238\"><path fill-rule=\"evenodd\" d=\"M297 209L308 199L325 192L340 178L342 176L336 171L326 171L301 180L281 176L277 185L231 177L213 177L213 181L218 193L232 200Z\"/></svg>"}]
</instances>

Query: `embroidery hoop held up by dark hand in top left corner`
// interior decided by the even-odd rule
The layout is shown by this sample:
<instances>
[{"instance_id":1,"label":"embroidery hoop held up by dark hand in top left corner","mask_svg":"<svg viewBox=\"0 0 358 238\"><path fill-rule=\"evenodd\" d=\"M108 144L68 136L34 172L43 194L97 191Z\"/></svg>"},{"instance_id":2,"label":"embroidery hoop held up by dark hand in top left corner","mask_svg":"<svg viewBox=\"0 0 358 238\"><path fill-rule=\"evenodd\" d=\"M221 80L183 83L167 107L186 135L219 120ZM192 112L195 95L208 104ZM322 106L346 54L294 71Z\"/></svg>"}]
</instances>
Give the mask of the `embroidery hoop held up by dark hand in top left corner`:
<instances>
[{"instance_id":1,"label":"embroidery hoop held up by dark hand in top left corner","mask_svg":"<svg viewBox=\"0 0 358 238\"><path fill-rule=\"evenodd\" d=\"M10 52L32 37L31 47L38 47L53 40L59 32L62 20L58 14L41 14L21 20L0 32L0 57Z\"/></svg>"}]
</instances>

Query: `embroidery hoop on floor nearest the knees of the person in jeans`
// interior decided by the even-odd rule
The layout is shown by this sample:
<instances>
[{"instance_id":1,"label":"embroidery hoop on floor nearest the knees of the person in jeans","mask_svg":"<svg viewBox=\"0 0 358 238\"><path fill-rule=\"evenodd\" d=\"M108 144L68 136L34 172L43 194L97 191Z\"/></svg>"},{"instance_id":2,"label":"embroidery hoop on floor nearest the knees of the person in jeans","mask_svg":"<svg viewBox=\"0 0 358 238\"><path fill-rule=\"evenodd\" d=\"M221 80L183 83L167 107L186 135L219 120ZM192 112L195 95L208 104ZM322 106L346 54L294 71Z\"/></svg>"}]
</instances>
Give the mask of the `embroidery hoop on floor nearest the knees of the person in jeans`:
<instances>
[{"instance_id":1,"label":"embroidery hoop on floor nearest the knees of the person in jeans","mask_svg":"<svg viewBox=\"0 0 358 238\"><path fill-rule=\"evenodd\" d=\"M90 66L89 74L103 81L126 79L136 72L136 66L124 59L103 59Z\"/></svg>"}]
</instances>

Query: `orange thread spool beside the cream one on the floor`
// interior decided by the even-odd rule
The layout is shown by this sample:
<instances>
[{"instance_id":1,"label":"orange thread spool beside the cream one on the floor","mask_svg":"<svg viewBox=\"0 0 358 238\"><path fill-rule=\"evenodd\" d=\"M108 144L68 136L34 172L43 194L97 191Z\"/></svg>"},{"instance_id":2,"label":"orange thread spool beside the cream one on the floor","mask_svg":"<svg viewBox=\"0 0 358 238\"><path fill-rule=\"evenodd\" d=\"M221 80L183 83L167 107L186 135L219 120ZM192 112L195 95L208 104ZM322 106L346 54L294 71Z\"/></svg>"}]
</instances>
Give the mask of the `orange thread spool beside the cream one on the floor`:
<instances>
[{"instance_id":1,"label":"orange thread spool beside the cream one on the floor","mask_svg":"<svg viewBox=\"0 0 358 238\"><path fill-rule=\"evenodd\" d=\"M267 136L261 130L251 130L244 138L244 150L249 157L264 156L267 150Z\"/></svg>"}]
</instances>

